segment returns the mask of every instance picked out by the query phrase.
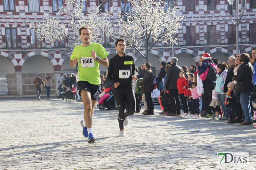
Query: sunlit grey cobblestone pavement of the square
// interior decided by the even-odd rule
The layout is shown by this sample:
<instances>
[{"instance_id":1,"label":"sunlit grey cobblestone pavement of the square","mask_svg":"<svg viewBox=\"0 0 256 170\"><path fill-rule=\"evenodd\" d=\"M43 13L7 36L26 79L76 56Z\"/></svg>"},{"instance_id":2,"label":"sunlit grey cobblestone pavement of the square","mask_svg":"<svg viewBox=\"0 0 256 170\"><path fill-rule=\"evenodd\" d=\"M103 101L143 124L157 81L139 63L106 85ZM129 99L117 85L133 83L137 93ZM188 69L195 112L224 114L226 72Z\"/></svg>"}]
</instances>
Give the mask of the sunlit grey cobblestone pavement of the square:
<instances>
[{"instance_id":1,"label":"sunlit grey cobblestone pavement of the square","mask_svg":"<svg viewBox=\"0 0 256 170\"><path fill-rule=\"evenodd\" d=\"M96 142L88 144L80 126L82 102L9 98L0 106L1 170L255 169L252 125L159 115L155 105L153 116L130 116L126 137L118 137L118 112L95 107ZM219 166L217 152L249 152L249 166Z\"/></svg>"}]
</instances>

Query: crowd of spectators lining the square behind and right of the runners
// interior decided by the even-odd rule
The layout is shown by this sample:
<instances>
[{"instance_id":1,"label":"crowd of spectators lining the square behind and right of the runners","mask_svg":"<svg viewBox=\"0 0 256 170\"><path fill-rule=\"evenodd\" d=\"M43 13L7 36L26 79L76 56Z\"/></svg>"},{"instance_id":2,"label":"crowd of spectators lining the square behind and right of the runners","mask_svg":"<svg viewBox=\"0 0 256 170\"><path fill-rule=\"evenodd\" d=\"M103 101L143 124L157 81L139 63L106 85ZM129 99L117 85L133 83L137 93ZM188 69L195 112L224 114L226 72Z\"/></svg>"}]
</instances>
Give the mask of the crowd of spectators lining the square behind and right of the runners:
<instances>
[{"instance_id":1,"label":"crowd of spectators lining the square behind and right of the runners","mask_svg":"<svg viewBox=\"0 0 256 170\"><path fill-rule=\"evenodd\" d=\"M150 63L141 63L140 67L136 68L138 82L134 82L137 105L135 113L140 113L139 106L142 100L145 109L141 113L154 115L151 92L157 88L161 92L160 115L206 117L241 125L253 124L256 106L255 60L256 48L252 49L250 55L243 53L229 57L228 63L218 63L217 58L204 53L199 55L199 66L191 65L189 73L186 66L180 67L178 59L172 57L171 62L161 62L160 72L156 76L152 73ZM212 77L211 67L215 70L215 78ZM62 97L63 92L71 91L74 99L81 101L77 95L75 76L60 73L58 97ZM106 79L106 72L100 75L100 79L99 99L106 93L111 94L113 88ZM45 78L45 86L50 91L52 84L49 75Z\"/></svg>"}]
</instances>

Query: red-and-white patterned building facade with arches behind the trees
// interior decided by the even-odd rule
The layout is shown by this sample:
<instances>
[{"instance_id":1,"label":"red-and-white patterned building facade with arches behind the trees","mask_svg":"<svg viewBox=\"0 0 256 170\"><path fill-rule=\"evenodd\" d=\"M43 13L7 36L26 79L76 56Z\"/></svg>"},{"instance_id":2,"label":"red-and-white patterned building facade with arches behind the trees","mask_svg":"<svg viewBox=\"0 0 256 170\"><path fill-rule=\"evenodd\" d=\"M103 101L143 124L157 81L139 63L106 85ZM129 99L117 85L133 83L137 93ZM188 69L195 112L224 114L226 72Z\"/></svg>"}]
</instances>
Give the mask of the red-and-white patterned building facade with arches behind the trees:
<instances>
[{"instance_id":1,"label":"red-and-white patterned building facade with arches behind the trees","mask_svg":"<svg viewBox=\"0 0 256 170\"><path fill-rule=\"evenodd\" d=\"M178 65L198 65L198 55L204 52L218 58L219 63L228 63L228 57L236 55L236 27L232 25L227 0L176 0L180 8L179 15L184 19L182 27L178 29L178 46L174 55L178 58ZM87 0L83 12L86 14L94 4L101 5L101 10L114 12L128 12L133 10L129 1L124 0ZM57 81L59 73L75 73L69 66L69 58L65 58L65 48L70 44L67 39L51 42L41 42L37 39L33 29L29 29L28 22L43 20L43 11L65 22L55 6L65 6L62 0L0 0L0 96L6 95L35 95L33 80L36 73L45 78L49 74L53 80L51 95L58 94ZM171 6L170 1L166 7ZM235 2L233 9L235 11ZM241 0L239 0L239 14ZM234 12L235 13L235 12ZM233 15L233 18L235 14ZM117 18L117 14L113 18ZM153 43L153 42L152 42ZM108 59L116 54L114 41L105 39L103 45L108 52ZM250 54L256 47L256 1L245 0L244 15L239 22L239 54ZM142 47L143 49L143 47ZM145 59L132 49L126 50L134 55L135 65L145 63ZM145 51L142 51L142 53ZM172 47L158 42L149 51L149 63L154 74L160 71L162 61L170 61ZM100 65L103 73L106 67ZM42 95L46 91L43 89Z\"/></svg>"}]
</instances>

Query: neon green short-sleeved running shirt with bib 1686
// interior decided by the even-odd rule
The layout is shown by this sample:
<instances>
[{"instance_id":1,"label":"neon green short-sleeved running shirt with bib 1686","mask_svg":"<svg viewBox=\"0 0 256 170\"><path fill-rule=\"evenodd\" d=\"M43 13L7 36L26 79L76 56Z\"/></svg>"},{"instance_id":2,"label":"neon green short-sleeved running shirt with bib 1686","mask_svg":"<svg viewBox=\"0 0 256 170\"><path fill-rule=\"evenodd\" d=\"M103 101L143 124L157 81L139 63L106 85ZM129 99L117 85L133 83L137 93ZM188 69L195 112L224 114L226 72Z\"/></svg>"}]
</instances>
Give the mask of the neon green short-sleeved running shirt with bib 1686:
<instances>
[{"instance_id":1,"label":"neon green short-sleeved running shirt with bib 1686","mask_svg":"<svg viewBox=\"0 0 256 170\"><path fill-rule=\"evenodd\" d=\"M107 51L101 44L91 42L91 45L88 47L82 47L82 45L76 46L70 56L70 60L77 58L78 74L76 74L76 82L87 81L93 85L100 85L100 63L91 56L92 50L101 59L108 56Z\"/></svg>"}]
</instances>

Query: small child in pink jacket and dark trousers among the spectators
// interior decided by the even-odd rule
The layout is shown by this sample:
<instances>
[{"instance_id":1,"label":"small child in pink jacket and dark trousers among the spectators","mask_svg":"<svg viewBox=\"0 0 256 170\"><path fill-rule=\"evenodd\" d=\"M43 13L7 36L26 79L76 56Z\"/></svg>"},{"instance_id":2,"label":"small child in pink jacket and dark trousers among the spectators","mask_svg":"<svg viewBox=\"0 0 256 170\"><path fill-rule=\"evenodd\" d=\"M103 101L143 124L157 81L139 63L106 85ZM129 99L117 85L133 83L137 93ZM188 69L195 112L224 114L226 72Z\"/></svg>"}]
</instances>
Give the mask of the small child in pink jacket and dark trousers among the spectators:
<instances>
[{"instance_id":1,"label":"small child in pink jacket and dark trousers among the spectators","mask_svg":"<svg viewBox=\"0 0 256 170\"><path fill-rule=\"evenodd\" d=\"M196 112L196 116L195 117L201 117L200 116L200 95L197 93L197 86L196 83L191 81L190 82L190 91L191 91L191 95L192 95L192 107L193 110Z\"/></svg>"}]
</instances>

